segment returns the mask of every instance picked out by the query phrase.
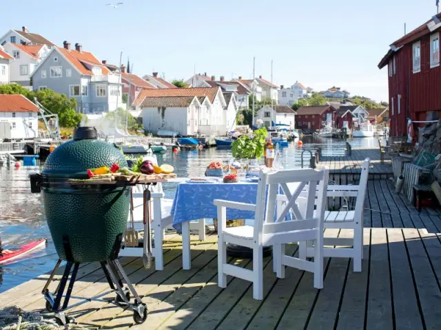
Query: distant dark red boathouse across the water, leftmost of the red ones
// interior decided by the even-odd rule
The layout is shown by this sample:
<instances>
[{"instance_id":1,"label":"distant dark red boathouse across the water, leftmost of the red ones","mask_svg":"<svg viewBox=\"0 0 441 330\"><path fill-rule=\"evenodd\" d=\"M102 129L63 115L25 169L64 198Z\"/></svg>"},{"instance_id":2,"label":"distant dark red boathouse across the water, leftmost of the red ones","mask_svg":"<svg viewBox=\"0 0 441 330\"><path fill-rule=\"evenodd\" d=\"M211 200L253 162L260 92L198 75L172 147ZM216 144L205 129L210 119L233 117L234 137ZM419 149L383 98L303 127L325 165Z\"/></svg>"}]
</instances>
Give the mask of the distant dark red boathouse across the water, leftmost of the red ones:
<instances>
[{"instance_id":1,"label":"distant dark red boathouse across the water, leftmost of the red ones","mask_svg":"<svg viewBox=\"0 0 441 330\"><path fill-rule=\"evenodd\" d=\"M328 115L329 113L329 115ZM333 106L318 105L313 107L300 107L297 110L296 126L298 129L322 129L327 121L331 126L336 126L337 110Z\"/></svg>"}]
</instances>

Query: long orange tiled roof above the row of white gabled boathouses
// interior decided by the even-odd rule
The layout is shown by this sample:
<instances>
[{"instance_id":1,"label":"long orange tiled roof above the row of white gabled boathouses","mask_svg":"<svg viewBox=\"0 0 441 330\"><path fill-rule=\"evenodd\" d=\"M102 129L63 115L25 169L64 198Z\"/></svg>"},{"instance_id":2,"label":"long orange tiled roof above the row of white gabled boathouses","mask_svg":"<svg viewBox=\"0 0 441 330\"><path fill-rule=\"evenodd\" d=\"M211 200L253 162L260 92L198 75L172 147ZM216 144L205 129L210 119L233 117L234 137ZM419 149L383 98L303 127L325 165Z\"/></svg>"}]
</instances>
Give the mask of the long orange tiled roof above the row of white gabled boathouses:
<instances>
[{"instance_id":1,"label":"long orange tiled roof above the row of white gabled boathouses","mask_svg":"<svg viewBox=\"0 0 441 330\"><path fill-rule=\"evenodd\" d=\"M210 102L214 102L218 91L220 91L220 87L144 89L139 93L134 104L138 106L143 103L145 98L165 98L172 96L207 96Z\"/></svg>"}]
</instances>

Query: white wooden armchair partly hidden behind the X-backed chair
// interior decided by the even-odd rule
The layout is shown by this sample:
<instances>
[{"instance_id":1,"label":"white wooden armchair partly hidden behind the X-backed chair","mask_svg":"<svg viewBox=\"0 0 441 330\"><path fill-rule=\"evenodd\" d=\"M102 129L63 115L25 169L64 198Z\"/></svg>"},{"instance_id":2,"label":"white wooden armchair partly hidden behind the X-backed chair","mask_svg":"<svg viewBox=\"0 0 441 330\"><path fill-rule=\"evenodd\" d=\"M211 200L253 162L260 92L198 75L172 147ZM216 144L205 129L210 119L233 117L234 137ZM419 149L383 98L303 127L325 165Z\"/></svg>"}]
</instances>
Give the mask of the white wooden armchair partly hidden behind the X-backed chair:
<instances>
[{"instance_id":1,"label":"white wooden armchair partly hidden behind the X-backed chair","mask_svg":"<svg viewBox=\"0 0 441 330\"><path fill-rule=\"evenodd\" d=\"M356 197L354 210L326 211L325 228L353 230L353 238L324 237L324 244L338 248L325 248L325 256L352 258L353 272L362 271L363 259L363 206L365 203L367 179L369 176L369 158L362 164L360 182L358 185L335 185L327 187L327 197ZM305 208L307 192L300 193L299 208ZM286 200L286 199L285 199ZM341 248L345 247L345 248ZM299 256L301 259L314 256L314 247L309 242L300 242Z\"/></svg>"}]
</instances>

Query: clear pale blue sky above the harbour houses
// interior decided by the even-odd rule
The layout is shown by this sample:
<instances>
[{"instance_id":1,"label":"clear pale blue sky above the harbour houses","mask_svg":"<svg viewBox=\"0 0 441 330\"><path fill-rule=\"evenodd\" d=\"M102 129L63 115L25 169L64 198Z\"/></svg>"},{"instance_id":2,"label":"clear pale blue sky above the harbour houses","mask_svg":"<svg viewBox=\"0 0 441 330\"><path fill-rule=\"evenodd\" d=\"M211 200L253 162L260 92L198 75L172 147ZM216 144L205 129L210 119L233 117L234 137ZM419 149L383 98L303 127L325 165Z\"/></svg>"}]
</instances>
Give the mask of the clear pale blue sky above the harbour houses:
<instances>
[{"instance_id":1,"label":"clear pale blue sky above the harbour houses","mask_svg":"<svg viewBox=\"0 0 441 330\"><path fill-rule=\"evenodd\" d=\"M3 0L4 1L4 0ZM118 8L106 3L123 2ZM276 85L336 86L387 101L389 45L436 14L435 0L21 0L2 5L0 34L21 29L133 73L256 76Z\"/></svg>"}]
</instances>

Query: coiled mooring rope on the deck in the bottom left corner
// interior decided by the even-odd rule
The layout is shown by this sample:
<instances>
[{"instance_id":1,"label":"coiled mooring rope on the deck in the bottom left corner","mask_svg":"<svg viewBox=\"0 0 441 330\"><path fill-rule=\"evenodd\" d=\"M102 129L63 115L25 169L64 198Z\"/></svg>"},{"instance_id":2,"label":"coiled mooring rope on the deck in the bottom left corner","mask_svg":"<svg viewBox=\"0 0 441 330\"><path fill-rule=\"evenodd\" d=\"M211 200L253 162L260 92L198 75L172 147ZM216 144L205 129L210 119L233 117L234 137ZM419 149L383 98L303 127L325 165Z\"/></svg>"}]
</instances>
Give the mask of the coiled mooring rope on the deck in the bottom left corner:
<instances>
[{"instance_id":1,"label":"coiled mooring rope on the deck in the bottom left corner","mask_svg":"<svg viewBox=\"0 0 441 330\"><path fill-rule=\"evenodd\" d=\"M43 318L34 311L23 311L18 306L0 309L0 329L3 330L63 330L87 329L81 325L69 324L61 326L55 318Z\"/></svg>"}]
</instances>

